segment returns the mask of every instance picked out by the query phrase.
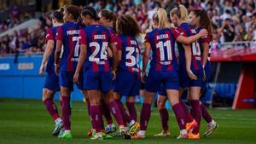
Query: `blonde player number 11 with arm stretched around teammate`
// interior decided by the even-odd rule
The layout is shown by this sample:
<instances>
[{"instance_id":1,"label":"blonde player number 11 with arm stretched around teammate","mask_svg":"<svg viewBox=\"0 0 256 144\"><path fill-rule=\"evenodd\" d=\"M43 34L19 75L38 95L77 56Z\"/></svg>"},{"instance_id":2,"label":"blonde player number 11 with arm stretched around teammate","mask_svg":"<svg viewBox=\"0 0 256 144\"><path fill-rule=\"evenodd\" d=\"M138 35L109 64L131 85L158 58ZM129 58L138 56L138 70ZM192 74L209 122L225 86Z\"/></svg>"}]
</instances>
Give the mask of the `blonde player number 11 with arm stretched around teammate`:
<instances>
[{"instance_id":1,"label":"blonde player number 11 with arm stretched around teammate","mask_svg":"<svg viewBox=\"0 0 256 144\"><path fill-rule=\"evenodd\" d=\"M160 85L163 84L171 102L173 111L177 118L177 123L180 127L180 136L178 138L187 138L186 118L183 112L183 107L179 103L179 81L177 76L178 65L177 58L174 53L175 40L180 43L192 43L198 38L204 36L204 32L200 32L193 37L183 37L175 29L170 28L171 25L167 20L165 9L159 9L157 14L154 14L154 22L157 23L158 29L146 34L145 51L143 56L143 77L146 75L146 66L150 51L153 55L150 62L150 70L148 72L148 80L146 82L146 91L144 95L143 107L141 112L141 130L134 139L144 138L148 125L148 120L151 114L151 104L154 94L160 91Z\"/></svg>"}]
</instances>

